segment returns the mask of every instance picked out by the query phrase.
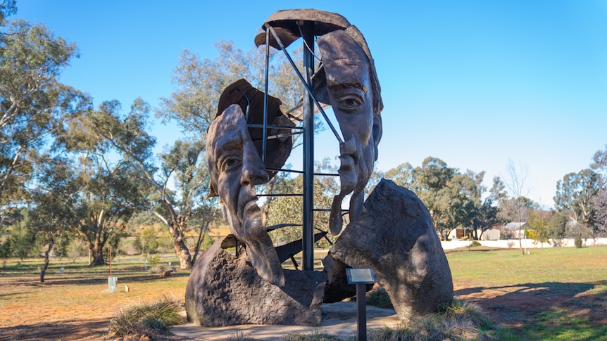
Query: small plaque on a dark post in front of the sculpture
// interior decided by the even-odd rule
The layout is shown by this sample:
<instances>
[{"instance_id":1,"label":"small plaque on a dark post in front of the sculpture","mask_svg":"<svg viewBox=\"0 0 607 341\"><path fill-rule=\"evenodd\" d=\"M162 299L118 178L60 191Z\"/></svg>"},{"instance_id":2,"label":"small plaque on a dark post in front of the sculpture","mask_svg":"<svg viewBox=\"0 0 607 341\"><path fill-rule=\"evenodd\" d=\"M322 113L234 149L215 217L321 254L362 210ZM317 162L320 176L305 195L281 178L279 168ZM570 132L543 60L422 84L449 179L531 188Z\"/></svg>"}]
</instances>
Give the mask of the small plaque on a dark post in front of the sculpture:
<instances>
[{"instance_id":1,"label":"small plaque on a dark post in front of the sculpture","mask_svg":"<svg viewBox=\"0 0 607 341\"><path fill-rule=\"evenodd\" d=\"M356 284L356 323L358 341L367 340L367 284L375 284L373 268L347 268L348 284Z\"/></svg>"}]
</instances>

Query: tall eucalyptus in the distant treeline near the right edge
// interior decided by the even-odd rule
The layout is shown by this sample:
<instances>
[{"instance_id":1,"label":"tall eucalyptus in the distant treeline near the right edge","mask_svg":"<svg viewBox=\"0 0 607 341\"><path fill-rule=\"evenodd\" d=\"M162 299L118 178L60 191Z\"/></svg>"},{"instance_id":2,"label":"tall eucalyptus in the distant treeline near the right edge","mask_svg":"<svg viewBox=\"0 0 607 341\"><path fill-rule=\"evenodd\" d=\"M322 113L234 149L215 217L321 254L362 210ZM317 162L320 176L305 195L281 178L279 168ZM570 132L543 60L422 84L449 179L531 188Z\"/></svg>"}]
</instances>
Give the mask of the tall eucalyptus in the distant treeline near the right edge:
<instances>
[{"instance_id":1,"label":"tall eucalyptus in the distant treeline near the right edge","mask_svg":"<svg viewBox=\"0 0 607 341\"><path fill-rule=\"evenodd\" d=\"M592 169L563 176L556 184L554 206L567 214L575 228L575 246L582 247L582 238L594 230L594 197L599 191L599 174ZM592 231L594 232L594 231Z\"/></svg>"}]
</instances>

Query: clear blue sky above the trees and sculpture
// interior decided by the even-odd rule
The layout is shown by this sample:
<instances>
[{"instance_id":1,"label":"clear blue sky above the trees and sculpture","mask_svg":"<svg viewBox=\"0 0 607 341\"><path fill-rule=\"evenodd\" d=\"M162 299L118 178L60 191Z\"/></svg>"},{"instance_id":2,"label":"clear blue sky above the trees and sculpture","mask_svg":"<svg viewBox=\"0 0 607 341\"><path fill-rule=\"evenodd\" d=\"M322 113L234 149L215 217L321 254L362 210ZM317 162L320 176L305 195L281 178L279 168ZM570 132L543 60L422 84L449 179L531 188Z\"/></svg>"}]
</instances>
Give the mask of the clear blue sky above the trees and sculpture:
<instances>
[{"instance_id":1,"label":"clear blue sky above the trees and sculpture","mask_svg":"<svg viewBox=\"0 0 607 341\"><path fill-rule=\"evenodd\" d=\"M42 22L79 46L61 77L125 110L173 90L182 49L215 58L214 44L249 51L274 11L344 15L365 35L382 85L377 167L425 157L462 172L506 176L527 167L528 197L553 205L556 181L589 167L607 144L607 1L114 1L18 0L12 18ZM298 43L296 43L298 44ZM295 45L294 45L295 46ZM175 131L159 123L161 145ZM326 139L327 143L323 143ZM326 136L317 159L331 155ZM319 147L320 146L320 147ZM328 154L327 154L328 153ZM294 165L298 160L292 161Z\"/></svg>"}]
</instances>

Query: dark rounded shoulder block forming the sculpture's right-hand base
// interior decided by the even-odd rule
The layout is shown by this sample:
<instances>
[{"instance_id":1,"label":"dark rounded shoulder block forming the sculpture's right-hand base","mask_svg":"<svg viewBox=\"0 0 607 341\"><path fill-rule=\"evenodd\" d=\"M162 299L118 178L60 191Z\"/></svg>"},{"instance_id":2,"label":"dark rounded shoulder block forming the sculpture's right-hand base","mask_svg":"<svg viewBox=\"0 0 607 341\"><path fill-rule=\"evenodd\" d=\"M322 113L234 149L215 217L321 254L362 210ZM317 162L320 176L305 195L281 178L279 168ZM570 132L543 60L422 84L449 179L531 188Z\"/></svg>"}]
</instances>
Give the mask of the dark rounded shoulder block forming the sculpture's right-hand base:
<instances>
[{"instance_id":1,"label":"dark rounded shoulder block forming the sculpture's right-hand base","mask_svg":"<svg viewBox=\"0 0 607 341\"><path fill-rule=\"evenodd\" d=\"M343 271L352 266L375 269L377 284L388 292L403 321L451 304L451 269L423 202L406 188L382 179L363 207L325 258L329 278L325 302L348 294Z\"/></svg>"}]
</instances>

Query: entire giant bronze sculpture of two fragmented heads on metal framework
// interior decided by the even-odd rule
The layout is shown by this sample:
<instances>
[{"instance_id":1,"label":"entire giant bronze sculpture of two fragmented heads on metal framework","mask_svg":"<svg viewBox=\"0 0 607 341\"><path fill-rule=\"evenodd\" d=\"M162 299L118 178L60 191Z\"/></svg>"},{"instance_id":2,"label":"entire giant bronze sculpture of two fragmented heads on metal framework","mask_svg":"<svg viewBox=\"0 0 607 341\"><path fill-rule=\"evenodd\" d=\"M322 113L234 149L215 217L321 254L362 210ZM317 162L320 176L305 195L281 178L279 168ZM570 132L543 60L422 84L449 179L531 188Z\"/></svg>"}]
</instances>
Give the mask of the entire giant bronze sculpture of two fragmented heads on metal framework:
<instances>
[{"instance_id":1,"label":"entire giant bronze sculpture of two fragmented heads on metal framework","mask_svg":"<svg viewBox=\"0 0 607 341\"><path fill-rule=\"evenodd\" d=\"M370 198L364 198L382 138L383 103L375 63L363 34L339 14L312 9L277 11L262 28L265 32L258 34L256 44L281 49L307 91L301 127L303 243L274 247L261 222L255 191L256 185L267 182L284 165L292 139L289 133L283 133L284 129L292 130L294 122L280 109L280 100L267 95L267 79L265 94L240 79L222 94L206 141L211 174L209 195L220 197L233 236L215 243L194 265L186 290L189 321L201 326L318 326L323 301L336 302L353 295L345 281L344 269L349 266L372 266L377 283L387 290L399 317L405 321L414 314L437 311L451 303L449 264L423 203L389 181L381 181ZM314 36L318 37L322 64L312 75L313 67L309 67L309 59L306 62L306 54L311 57ZM285 49L299 37L304 38L308 49L304 50L308 80ZM268 51L269 47L266 63ZM306 215L314 208L308 205L306 213L306 178L312 175L313 180L313 169L306 169L306 161L308 166L310 159L313 162L313 150L306 156L305 148L306 132L313 132L309 125L313 118L310 98L339 141L340 190L332 201L328 226L334 235L342 231L342 201L351 194L349 225L323 259L323 271L306 269ZM343 139L332 127L323 105L332 106ZM312 233L311 226L307 231ZM318 240L323 233L310 234L308 242ZM246 248L246 257L238 256L239 242ZM296 252L303 249L304 253L303 271L282 269L282 260L287 259L287 254L292 257L298 243L301 247ZM221 250L232 246L237 247L236 257ZM311 243L308 246L313 249Z\"/></svg>"}]
</instances>

